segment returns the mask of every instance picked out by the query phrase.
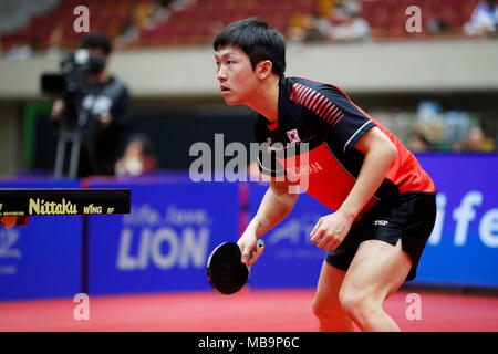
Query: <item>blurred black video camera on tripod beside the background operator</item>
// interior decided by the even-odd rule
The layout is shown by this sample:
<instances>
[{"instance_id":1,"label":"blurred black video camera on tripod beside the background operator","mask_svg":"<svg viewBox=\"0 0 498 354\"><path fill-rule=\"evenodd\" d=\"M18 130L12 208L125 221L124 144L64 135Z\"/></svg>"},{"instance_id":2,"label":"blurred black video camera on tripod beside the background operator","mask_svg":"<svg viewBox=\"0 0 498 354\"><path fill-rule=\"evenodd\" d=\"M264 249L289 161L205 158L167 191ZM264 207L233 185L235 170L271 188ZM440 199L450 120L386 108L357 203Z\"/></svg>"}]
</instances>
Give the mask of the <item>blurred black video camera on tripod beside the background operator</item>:
<instances>
[{"instance_id":1,"label":"blurred black video camera on tripod beside the background operator","mask_svg":"<svg viewBox=\"0 0 498 354\"><path fill-rule=\"evenodd\" d=\"M80 160L80 147L83 128L89 123L87 112L82 110L86 77L98 72L105 65L105 59L90 55L86 49L68 54L60 63L60 73L45 73L41 76L42 93L60 97L64 108L60 117L59 143L55 157L55 177L75 178ZM65 150L70 144L71 157L69 174L63 171Z\"/></svg>"}]
</instances>

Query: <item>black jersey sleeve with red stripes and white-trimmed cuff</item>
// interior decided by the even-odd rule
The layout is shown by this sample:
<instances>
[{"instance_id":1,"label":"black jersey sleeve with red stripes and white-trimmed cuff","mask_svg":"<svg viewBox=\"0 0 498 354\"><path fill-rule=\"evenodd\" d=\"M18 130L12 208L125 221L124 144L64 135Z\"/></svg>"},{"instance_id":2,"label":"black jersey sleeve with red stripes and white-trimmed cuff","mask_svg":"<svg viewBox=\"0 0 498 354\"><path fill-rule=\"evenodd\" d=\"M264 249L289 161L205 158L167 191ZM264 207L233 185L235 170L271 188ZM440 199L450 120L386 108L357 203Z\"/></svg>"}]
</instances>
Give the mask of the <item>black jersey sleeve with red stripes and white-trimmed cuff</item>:
<instances>
[{"instance_id":1,"label":"black jersey sleeve with red stripes and white-trimmed cuff","mask_svg":"<svg viewBox=\"0 0 498 354\"><path fill-rule=\"evenodd\" d=\"M359 108L345 93L332 85L311 90L313 96L302 100L302 105L318 119L321 131L347 152L375 123Z\"/></svg>"}]
</instances>

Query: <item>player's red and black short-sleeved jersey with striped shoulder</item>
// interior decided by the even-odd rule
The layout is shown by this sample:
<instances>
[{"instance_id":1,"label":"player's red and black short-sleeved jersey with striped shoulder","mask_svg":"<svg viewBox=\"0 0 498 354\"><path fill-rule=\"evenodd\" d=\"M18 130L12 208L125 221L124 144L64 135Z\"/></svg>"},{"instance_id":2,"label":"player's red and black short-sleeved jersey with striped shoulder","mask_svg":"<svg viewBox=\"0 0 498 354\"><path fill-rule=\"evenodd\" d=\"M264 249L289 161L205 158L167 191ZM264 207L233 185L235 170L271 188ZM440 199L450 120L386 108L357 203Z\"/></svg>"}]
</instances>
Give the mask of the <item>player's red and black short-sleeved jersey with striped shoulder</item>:
<instances>
[{"instance_id":1,"label":"player's red and black short-sleeved jersey with striped shoulder","mask_svg":"<svg viewBox=\"0 0 498 354\"><path fill-rule=\"evenodd\" d=\"M305 191L332 210L343 204L363 165L355 143L377 126L397 148L375 200L408 191L436 191L430 177L415 156L385 127L357 107L339 87L303 77L280 79L278 122L262 115L256 122L258 143L266 143L258 166L269 176L288 175L291 180L305 177ZM300 146L308 143L307 149ZM264 156L266 154L266 156ZM303 158L305 154L307 158ZM291 157L294 158L292 163ZM305 164L297 160L305 160Z\"/></svg>"}]
</instances>

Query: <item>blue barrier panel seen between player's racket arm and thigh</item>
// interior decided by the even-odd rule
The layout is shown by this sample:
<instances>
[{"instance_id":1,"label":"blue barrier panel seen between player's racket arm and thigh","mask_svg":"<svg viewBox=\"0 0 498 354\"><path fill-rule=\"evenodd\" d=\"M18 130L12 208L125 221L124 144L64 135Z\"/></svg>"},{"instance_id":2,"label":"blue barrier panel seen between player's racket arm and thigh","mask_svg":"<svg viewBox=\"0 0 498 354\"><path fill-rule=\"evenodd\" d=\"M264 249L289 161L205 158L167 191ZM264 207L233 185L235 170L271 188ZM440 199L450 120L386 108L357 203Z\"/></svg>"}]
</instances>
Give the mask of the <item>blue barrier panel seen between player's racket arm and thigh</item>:
<instances>
[{"instance_id":1,"label":"blue barrier panel seen between player's racket arm and thigh","mask_svg":"<svg viewBox=\"0 0 498 354\"><path fill-rule=\"evenodd\" d=\"M252 219L268 185L249 186L249 217ZM301 194L293 210L266 233L264 253L251 266L251 288L314 288L325 251L310 242L317 221L331 211L307 194Z\"/></svg>"}]
</instances>

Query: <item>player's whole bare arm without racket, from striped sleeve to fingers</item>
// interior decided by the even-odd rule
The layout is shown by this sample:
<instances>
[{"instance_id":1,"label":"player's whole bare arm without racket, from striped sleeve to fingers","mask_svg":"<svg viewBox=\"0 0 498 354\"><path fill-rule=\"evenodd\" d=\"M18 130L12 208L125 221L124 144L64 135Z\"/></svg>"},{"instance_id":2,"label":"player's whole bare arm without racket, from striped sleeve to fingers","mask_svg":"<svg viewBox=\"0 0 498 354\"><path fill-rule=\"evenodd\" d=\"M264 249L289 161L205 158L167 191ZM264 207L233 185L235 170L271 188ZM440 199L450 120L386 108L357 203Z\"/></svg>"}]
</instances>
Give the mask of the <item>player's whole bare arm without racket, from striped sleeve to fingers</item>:
<instances>
[{"instance_id":1,"label":"player's whole bare arm without racket, from striped sleeve to fingers","mask_svg":"<svg viewBox=\"0 0 498 354\"><path fill-rule=\"evenodd\" d=\"M335 249L346 237L351 225L385 178L397 150L377 127L366 132L354 145L363 165L347 198L334 214L324 216L311 231L311 242L324 250Z\"/></svg>"}]
</instances>

